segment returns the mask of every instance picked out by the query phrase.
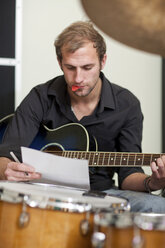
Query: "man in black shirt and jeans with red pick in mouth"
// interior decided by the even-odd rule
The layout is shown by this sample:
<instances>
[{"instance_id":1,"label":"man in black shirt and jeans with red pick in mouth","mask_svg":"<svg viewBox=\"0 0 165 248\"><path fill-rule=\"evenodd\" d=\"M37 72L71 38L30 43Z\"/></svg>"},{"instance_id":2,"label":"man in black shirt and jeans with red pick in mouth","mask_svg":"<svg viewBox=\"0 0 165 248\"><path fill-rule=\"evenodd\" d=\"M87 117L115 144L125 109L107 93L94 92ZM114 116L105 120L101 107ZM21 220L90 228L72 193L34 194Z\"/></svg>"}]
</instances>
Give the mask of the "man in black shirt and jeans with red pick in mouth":
<instances>
[{"instance_id":1,"label":"man in black shirt and jeans with red pick in mouth","mask_svg":"<svg viewBox=\"0 0 165 248\"><path fill-rule=\"evenodd\" d=\"M1 145L1 179L27 181L40 178L33 167L11 162L11 150L29 146L41 125L57 128L80 123L90 136L90 148L99 151L141 152L140 103L128 90L111 84L101 70L106 63L103 37L88 22L76 22L55 41L63 76L34 87L17 108ZM151 163L148 177L141 168L91 168L91 189L127 197L132 211L165 212L165 199L148 193L165 187L165 157ZM119 189L112 177L118 173ZM136 191L136 193L135 193ZM139 191L139 192L137 192Z\"/></svg>"}]
</instances>

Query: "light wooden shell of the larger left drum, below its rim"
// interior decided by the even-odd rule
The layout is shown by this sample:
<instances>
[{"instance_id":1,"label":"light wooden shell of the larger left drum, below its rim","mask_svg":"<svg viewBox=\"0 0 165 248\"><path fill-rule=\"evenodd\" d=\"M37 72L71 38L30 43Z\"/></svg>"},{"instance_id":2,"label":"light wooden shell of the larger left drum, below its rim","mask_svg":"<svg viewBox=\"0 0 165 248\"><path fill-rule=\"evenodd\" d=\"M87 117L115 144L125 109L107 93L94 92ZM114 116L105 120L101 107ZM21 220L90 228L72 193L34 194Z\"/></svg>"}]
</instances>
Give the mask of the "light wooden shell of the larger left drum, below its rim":
<instances>
[{"instance_id":1,"label":"light wooden shell of the larger left drum, below its rim","mask_svg":"<svg viewBox=\"0 0 165 248\"><path fill-rule=\"evenodd\" d=\"M80 222L86 218L86 213L27 207L30 221L26 227L20 228L21 212L21 203L0 201L0 248L91 247L92 215L90 231L83 236Z\"/></svg>"}]
</instances>

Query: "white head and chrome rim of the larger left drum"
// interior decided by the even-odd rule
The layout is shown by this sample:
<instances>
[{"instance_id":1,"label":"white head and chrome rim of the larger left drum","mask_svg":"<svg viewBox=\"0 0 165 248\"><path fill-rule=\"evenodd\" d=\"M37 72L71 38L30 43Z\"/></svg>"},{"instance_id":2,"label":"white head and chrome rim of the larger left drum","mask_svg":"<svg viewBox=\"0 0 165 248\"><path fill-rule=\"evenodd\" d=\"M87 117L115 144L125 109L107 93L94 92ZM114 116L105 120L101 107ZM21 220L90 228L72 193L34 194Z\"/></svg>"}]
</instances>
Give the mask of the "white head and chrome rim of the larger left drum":
<instances>
[{"instance_id":1,"label":"white head and chrome rim of the larger left drum","mask_svg":"<svg viewBox=\"0 0 165 248\"><path fill-rule=\"evenodd\" d=\"M96 209L127 209L128 201L120 197L106 195L104 198L84 196L85 191L48 184L23 182L0 182L1 200L18 203L26 199L30 207L68 209L84 212Z\"/></svg>"}]
</instances>

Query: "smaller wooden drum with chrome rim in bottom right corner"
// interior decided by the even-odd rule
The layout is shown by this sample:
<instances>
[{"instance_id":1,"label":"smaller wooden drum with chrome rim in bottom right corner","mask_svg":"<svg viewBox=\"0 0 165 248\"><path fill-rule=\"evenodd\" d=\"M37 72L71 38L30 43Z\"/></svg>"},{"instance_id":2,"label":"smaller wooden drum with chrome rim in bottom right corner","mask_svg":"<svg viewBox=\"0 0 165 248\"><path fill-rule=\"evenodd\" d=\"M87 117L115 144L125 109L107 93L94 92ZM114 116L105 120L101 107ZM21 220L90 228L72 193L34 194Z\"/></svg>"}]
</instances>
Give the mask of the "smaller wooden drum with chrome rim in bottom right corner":
<instances>
[{"instance_id":1,"label":"smaller wooden drum with chrome rim in bottom right corner","mask_svg":"<svg viewBox=\"0 0 165 248\"><path fill-rule=\"evenodd\" d=\"M94 248L164 248L165 215L155 213L96 213Z\"/></svg>"}]
</instances>

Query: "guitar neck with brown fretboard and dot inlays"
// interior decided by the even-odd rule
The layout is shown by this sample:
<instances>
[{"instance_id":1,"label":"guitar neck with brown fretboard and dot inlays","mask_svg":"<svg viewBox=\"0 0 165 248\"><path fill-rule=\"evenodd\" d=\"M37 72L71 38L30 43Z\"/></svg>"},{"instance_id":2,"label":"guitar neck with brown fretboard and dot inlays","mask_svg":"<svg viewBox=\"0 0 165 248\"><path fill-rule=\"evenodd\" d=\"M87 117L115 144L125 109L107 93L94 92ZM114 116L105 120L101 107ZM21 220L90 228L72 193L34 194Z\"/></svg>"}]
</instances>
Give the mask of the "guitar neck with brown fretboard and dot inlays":
<instances>
[{"instance_id":1,"label":"guitar neck with brown fretboard and dot inlays","mask_svg":"<svg viewBox=\"0 0 165 248\"><path fill-rule=\"evenodd\" d=\"M150 166L152 161L156 161L163 154L150 153L126 153L126 152L86 152L86 151L48 151L55 155L87 159L90 167L142 167Z\"/></svg>"}]
</instances>

